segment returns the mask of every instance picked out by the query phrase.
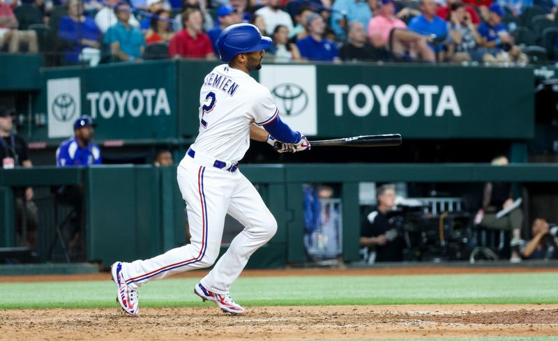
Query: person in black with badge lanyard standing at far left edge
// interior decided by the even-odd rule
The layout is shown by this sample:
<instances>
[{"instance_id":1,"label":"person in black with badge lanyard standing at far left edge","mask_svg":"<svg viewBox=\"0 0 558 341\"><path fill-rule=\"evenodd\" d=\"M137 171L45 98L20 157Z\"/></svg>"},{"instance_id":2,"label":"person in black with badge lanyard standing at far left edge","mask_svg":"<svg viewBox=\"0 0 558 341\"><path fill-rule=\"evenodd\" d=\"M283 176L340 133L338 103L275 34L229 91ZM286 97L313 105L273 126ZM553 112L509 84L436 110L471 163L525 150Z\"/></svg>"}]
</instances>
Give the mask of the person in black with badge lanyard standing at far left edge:
<instances>
[{"instance_id":1,"label":"person in black with badge lanyard standing at far left edge","mask_svg":"<svg viewBox=\"0 0 558 341\"><path fill-rule=\"evenodd\" d=\"M0 160L2 160L2 169L13 169L17 167L31 168L31 160L29 160L29 150L27 142L13 132L13 121L10 110L4 106L0 106ZM15 226L17 235L23 236L23 215L27 228L27 246L33 250L36 244L36 236L38 229L38 210L33 200L33 188L28 187L25 190L15 190Z\"/></svg>"}]
</instances>

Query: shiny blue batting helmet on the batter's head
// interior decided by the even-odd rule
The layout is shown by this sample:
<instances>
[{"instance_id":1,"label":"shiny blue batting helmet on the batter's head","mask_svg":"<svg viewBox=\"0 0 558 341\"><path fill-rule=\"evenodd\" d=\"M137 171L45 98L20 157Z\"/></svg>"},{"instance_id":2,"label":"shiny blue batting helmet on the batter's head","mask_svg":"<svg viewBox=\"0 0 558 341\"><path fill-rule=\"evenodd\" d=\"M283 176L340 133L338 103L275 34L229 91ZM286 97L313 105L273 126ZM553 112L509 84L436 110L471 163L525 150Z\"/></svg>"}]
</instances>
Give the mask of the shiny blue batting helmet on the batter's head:
<instances>
[{"instance_id":1,"label":"shiny blue batting helmet on the batter's head","mask_svg":"<svg viewBox=\"0 0 558 341\"><path fill-rule=\"evenodd\" d=\"M271 38L262 37L259 29L252 24L234 24L221 32L217 40L219 57L228 63L236 54L266 50L271 46Z\"/></svg>"}]
</instances>

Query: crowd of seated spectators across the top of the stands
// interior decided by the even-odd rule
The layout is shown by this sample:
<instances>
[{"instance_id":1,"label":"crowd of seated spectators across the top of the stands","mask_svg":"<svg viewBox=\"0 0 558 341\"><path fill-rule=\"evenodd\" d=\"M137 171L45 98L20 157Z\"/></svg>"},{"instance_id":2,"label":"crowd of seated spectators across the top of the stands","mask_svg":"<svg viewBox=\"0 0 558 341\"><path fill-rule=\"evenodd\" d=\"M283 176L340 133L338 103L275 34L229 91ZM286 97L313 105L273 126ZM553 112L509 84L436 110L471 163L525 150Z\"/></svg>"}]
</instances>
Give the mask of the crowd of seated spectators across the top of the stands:
<instances>
[{"instance_id":1,"label":"crowd of seated spectators across the top of the stands","mask_svg":"<svg viewBox=\"0 0 558 341\"><path fill-rule=\"evenodd\" d=\"M0 0L0 51L50 65L218 59L225 27L255 24L266 58L525 65L556 61L555 0Z\"/></svg>"}]
</instances>

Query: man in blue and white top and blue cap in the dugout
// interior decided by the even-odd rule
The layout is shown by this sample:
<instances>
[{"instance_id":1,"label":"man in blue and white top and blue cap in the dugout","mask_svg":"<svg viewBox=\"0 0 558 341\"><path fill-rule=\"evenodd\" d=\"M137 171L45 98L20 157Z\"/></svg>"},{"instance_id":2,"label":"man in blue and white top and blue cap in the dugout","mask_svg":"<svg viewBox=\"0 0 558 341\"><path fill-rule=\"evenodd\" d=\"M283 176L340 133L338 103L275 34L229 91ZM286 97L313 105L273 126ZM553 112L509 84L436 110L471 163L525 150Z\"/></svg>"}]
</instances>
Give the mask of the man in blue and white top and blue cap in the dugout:
<instances>
[{"instance_id":1,"label":"man in blue and white top and blue cap in the dugout","mask_svg":"<svg viewBox=\"0 0 558 341\"><path fill-rule=\"evenodd\" d=\"M74 123L74 137L66 139L56 149L58 167L100 165L99 146L93 144L93 119L81 116Z\"/></svg>"}]
</instances>

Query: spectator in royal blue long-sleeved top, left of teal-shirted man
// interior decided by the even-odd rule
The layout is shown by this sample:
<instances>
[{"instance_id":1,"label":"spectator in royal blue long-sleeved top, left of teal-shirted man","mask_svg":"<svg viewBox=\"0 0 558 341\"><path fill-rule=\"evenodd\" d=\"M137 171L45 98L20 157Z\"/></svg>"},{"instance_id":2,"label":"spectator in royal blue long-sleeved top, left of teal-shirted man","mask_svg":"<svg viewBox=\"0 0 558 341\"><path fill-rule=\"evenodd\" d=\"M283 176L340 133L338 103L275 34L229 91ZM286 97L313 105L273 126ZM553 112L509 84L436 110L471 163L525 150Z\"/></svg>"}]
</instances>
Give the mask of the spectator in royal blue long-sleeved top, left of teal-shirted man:
<instances>
[{"instance_id":1,"label":"spectator in royal blue long-sleeved top, left of teal-shirted man","mask_svg":"<svg viewBox=\"0 0 558 341\"><path fill-rule=\"evenodd\" d=\"M64 61L78 63L90 61L96 66L100 61L100 29L95 20L83 15L81 0L68 1L68 16L59 23L59 37L66 46Z\"/></svg>"}]
</instances>

